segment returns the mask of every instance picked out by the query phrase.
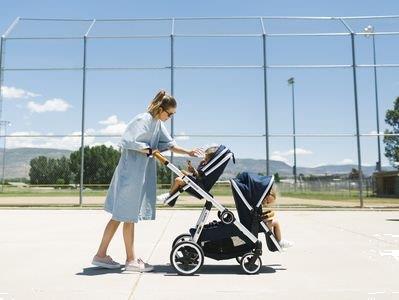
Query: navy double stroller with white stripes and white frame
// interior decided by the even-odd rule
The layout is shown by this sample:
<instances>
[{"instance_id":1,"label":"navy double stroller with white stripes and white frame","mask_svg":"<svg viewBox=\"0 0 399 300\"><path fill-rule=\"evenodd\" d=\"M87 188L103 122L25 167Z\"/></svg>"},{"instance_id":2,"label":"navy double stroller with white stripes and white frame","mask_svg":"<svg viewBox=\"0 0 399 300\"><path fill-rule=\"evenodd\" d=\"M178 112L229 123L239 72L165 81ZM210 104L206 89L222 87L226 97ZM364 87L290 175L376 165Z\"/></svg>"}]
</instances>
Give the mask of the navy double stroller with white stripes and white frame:
<instances>
[{"instance_id":1,"label":"navy double stroller with white stripes and white frame","mask_svg":"<svg viewBox=\"0 0 399 300\"><path fill-rule=\"evenodd\" d=\"M177 236L172 243L170 263L178 274L195 274L202 267L205 256L216 260L236 259L245 273L257 274L262 267L259 233L265 234L270 251L281 251L272 231L262 221L261 204L274 184L273 176L243 172L230 180L237 219L210 193L230 159L234 160L234 154L228 148L219 146L208 163L198 169L197 178L182 174L160 153L154 156L186 183L181 191L171 195L165 203L173 203L183 191L205 200L196 226L189 233ZM218 210L219 220L207 223L212 207Z\"/></svg>"}]
</instances>

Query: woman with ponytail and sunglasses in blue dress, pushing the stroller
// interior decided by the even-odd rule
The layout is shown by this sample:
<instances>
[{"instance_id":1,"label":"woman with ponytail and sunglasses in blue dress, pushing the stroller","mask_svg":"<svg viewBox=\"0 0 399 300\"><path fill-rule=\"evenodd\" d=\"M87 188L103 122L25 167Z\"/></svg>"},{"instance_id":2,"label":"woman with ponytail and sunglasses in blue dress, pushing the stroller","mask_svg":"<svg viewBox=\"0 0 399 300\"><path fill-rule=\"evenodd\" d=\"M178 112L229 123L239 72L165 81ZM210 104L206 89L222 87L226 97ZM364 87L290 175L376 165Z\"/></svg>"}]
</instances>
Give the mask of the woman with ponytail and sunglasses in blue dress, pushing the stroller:
<instances>
[{"instance_id":1,"label":"woman with ponytail and sunglasses in blue dress, pushing the stroller","mask_svg":"<svg viewBox=\"0 0 399 300\"><path fill-rule=\"evenodd\" d=\"M133 118L123 133L122 152L108 189L105 211L112 214L92 264L104 268L121 265L107 255L108 245L120 222L126 250L127 271L149 272L153 267L136 257L134 252L134 223L155 219L156 162L154 150L198 156L199 149L186 150L177 146L163 122L176 113L176 100L160 91L151 101L148 111Z\"/></svg>"}]
</instances>

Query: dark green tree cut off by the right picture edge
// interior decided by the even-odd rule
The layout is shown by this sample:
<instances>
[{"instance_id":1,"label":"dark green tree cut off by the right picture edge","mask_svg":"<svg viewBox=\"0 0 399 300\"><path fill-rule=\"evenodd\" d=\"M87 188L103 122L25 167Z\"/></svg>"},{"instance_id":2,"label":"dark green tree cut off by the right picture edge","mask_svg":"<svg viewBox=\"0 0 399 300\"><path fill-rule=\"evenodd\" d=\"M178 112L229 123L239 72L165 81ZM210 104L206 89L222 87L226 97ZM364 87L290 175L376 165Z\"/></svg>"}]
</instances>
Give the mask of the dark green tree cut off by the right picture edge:
<instances>
[{"instance_id":1,"label":"dark green tree cut off by the right picture edge","mask_svg":"<svg viewBox=\"0 0 399 300\"><path fill-rule=\"evenodd\" d=\"M388 109L385 114L385 122L391 126L385 133L399 134L399 97L394 101L393 109ZM392 166L399 168L399 136L384 136L385 156Z\"/></svg>"}]
</instances>

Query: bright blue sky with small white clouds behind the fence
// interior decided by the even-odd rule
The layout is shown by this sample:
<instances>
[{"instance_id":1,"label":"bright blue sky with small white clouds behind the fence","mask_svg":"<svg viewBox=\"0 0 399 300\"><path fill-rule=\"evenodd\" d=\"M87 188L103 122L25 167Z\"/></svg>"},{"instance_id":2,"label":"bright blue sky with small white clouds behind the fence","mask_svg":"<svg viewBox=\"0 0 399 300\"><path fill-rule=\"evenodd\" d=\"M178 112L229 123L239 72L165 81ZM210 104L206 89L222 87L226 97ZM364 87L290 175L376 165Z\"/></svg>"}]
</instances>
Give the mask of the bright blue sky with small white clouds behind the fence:
<instances>
[{"instance_id":1,"label":"bright blue sky with small white clouds behind the fence","mask_svg":"<svg viewBox=\"0 0 399 300\"><path fill-rule=\"evenodd\" d=\"M231 16L370 16L399 14L397 1L1 1L0 32L16 17L25 18L171 18ZM372 22L372 23L370 23ZM399 31L399 19L348 21L356 31ZM20 21L9 37L82 36L86 22ZM338 21L265 20L268 33L346 33ZM87 42L87 67L161 67L151 70L89 70L86 76L86 144L117 145L126 124L146 110L159 89L171 90L170 38L99 39L95 36L169 35L169 21L96 22ZM176 21L176 35L260 34L258 19ZM398 64L399 36L376 37L380 64ZM356 63L372 64L372 39L355 38ZM3 55L2 120L7 148L77 149L82 114L82 71L7 71L12 68L80 68L83 42L72 40L7 40ZM350 65L348 35L328 37L270 36L267 64ZM179 66L262 66L262 38L183 37L174 39L174 95L178 101L174 133L183 147L225 144L240 158L265 158L264 74L261 68L188 69ZM399 95L398 68L378 68L380 131L384 116ZM362 134L376 133L373 68L357 68L359 125ZM291 87L295 77L297 134L356 133L351 68L267 71L270 158L293 163ZM170 124L168 123L168 126ZM54 137L29 138L18 135ZM108 135L96 137L95 135ZM193 136L194 135L194 136ZM197 135L197 136L195 136ZM198 136L201 135L201 136ZM208 136L205 135L217 135ZM225 135L225 136L223 136ZM235 135L232 137L232 135ZM245 137L244 137L245 136ZM297 165L357 164L354 137L297 137ZM382 154L384 145L381 142ZM361 138L363 165L375 165L377 138ZM388 165L383 156L383 165Z\"/></svg>"}]
</instances>

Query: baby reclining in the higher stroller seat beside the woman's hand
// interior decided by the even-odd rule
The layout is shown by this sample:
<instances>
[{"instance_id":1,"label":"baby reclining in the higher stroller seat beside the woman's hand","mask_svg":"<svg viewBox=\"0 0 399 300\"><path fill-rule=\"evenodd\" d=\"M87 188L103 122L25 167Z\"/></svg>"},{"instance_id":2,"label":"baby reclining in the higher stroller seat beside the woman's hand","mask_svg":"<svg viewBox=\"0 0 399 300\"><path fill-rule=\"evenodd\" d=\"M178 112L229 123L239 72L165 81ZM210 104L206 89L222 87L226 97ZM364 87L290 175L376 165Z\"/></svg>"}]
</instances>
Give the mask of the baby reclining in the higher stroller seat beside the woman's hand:
<instances>
[{"instance_id":1,"label":"baby reclining in the higher stroller seat beside the woman's hand","mask_svg":"<svg viewBox=\"0 0 399 300\"><path fill-rule=\"evenodd\" d=\"M218 148L219 148L218 146L212 146L212 147L207 148L205 150L205 157L203 160L200 161L197 169L195 169L192 166L191 161L188 160L187 161L187 170L181 170L181 172L185 176L190 176L193 179L199 179L202 176L202 173L200 171L201 167L203 167L210 161L213 154L218 150ZM184 182L184 180L181 177L176 177L172 187L170 188L170 191L168 193L164 193L164 194L157 196L157 201L165 202L170 196L174 195L177 191L179 191L185 185L186 185L186 183Z\"/></svg>"}]
</instances>

